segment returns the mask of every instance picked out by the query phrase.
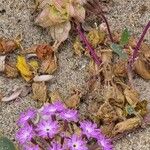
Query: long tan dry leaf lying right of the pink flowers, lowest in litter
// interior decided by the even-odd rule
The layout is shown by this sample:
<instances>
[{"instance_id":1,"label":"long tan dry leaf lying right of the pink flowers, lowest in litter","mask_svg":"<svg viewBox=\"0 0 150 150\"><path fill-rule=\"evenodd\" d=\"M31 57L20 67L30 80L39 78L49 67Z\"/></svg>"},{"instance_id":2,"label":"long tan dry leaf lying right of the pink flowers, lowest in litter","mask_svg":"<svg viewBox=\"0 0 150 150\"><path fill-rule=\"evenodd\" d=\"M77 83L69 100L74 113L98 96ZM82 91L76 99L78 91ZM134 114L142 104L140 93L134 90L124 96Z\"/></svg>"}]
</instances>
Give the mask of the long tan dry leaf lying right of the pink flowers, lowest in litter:
<instances>
[{"instance_id":1,"label":"long tan dry leaf lying right of the pink flowers, lowest in litter","mask_svg":"<svg viewBox=\"0 0 150 150\"><path fill-rule=\"evenodd\" d=\"M113 129L113 135L132 130L141 125L141 119L138 117L130 118L125 121L119 122Z\"/></svg>"}]
</instances>

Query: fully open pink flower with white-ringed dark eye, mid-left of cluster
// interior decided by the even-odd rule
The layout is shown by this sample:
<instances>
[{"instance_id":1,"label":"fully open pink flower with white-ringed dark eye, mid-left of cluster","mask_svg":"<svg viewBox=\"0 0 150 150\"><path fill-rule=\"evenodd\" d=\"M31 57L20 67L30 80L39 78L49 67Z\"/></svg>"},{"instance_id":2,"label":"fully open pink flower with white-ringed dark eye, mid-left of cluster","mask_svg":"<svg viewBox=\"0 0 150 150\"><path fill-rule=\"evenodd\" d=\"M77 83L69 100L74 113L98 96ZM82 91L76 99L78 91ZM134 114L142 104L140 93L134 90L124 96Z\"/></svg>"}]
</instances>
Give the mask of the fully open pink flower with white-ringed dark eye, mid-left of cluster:
<instances>
[{"instance_id":1,"label":"fully open pink flower with white-ringed dark eye, mid-left of cluster","mask_svg":"<svg viewBox=\"0 0 150 150\"><path fill-rule=\"evenodd\" d=\"M42 120L36 128L38 135L43 138L52 138L58 133L59 125L56 121Z\"/></svg>"}]
</instances>

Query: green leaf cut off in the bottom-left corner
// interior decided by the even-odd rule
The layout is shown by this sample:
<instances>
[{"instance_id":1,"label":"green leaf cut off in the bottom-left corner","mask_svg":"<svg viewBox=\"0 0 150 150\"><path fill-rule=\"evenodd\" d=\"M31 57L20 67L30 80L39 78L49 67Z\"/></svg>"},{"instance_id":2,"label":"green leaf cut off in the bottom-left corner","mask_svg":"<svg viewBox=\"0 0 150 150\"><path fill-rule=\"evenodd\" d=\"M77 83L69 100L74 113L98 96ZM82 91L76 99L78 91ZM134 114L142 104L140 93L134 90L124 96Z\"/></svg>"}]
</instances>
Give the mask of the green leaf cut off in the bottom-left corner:
<instances>
[{"instance_id":1,"label":"green leaf cut off in the bottom-left corner","mask_svg":"<svg viewBox=\"0 0 150 150\"><path fill-rule=\"evenodd\" d=\"M8 138L0 137L0 150L16 150L16 148Z\"/></svg>"}]
</instances>

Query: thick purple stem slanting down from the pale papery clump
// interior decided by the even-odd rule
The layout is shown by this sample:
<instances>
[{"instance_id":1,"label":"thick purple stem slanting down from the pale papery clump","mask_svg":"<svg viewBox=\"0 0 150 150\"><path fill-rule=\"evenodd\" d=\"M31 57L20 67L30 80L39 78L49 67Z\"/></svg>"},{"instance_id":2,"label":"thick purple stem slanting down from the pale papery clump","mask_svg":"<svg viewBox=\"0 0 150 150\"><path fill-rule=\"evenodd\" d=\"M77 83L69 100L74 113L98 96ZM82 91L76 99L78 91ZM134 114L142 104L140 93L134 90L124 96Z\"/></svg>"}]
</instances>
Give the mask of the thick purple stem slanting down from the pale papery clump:
<instances>
[{"instance_id":1,"label":"thick purple stem slanting down from the pale papery clump","mask_svg":"<svg viewBox=\"0 0 150 150\"><path fill-rule=\"evenodd\" d=\"M100 65L102 63L102 60L97 56L97 54L95 53L94 48L92 47L92 45L89 43L89 41L87 40L86 36L84 35L84 33L81 31L81 25L77 24L77 32L80 36L80 39L84 42L84 44L87 46L88 50L90 51L90 55L92 56L92 58L94 59L95 63L97 65Z\"/></svg>"}]
</instances>

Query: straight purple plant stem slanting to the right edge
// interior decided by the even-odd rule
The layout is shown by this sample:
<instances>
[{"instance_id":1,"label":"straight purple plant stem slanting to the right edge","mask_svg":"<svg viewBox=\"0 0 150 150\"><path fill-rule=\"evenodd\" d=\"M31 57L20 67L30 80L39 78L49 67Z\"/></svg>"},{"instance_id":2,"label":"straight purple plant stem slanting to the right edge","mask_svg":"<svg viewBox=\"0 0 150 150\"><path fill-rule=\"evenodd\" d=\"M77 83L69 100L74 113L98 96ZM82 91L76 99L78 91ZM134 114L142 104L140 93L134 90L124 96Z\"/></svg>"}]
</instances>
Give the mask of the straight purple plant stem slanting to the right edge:
<instances>
[{"instance_id":1,"label":"straight purple plant stem slanting to the right edge","mask_svg":"<svg viewBox=\"0 0 150 150\"><path fill-rule=\"evenodd\" d=\"M145 26L144 30L143 30L143 33L141 34L141 37L136 45L136 47L134 48L134 51L133 51L133 54L132 54L132 57L131 57L131 65L135 62L135 59L137 58L138 56L138 52L139 52L139 49L141 47L141 44L144 40L144 37L148 31L148 29L150 28L150 21L148 22L148 24Z\"/></svg>"}]
</instances>

